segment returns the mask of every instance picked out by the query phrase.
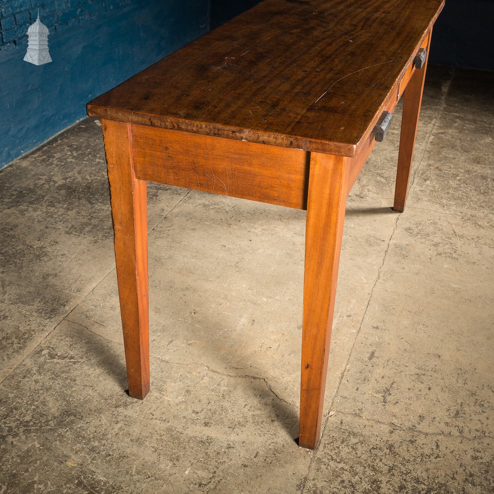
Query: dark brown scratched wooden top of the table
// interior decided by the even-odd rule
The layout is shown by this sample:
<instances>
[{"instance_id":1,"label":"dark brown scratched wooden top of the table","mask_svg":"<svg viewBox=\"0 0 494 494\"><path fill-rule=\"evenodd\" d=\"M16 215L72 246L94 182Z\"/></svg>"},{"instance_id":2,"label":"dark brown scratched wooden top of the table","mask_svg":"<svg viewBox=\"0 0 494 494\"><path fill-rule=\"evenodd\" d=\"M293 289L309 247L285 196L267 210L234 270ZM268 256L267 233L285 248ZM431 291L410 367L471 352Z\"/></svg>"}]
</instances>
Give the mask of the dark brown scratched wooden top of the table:
<instances>
[{"instance_id":1,"label":"dark brown scratched wooden top of the table","mask_svg":"<svg viewBox=\"0 0 494 494\"><path fill-rule=\"evenodd\" d=\"M443 6L264 0L95 98L87 114L352 157Z\"/></svg>"}]
</instances>

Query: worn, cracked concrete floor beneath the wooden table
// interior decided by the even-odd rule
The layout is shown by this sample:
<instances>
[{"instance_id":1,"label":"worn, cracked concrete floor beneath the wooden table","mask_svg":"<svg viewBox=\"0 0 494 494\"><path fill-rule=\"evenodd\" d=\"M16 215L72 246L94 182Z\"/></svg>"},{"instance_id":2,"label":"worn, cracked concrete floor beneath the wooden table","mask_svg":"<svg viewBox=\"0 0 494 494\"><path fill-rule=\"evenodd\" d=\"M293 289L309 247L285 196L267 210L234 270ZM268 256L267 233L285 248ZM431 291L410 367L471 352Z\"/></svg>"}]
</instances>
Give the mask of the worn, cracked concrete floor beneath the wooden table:
<instances>
[{"instance_id":1,"label":"worn, cracked concrete floor beneath the wooden table","mask_svg":"<svg viewBox=\"0 0 494 494\"><path fill-rule=\"evenodd\" d=\"M493 493L494 74L431 67L348 199L322 441L300 449L305 212L149 185L129 398L101 127L0 173L0 493Z\"/></svg>"}]
</instances>

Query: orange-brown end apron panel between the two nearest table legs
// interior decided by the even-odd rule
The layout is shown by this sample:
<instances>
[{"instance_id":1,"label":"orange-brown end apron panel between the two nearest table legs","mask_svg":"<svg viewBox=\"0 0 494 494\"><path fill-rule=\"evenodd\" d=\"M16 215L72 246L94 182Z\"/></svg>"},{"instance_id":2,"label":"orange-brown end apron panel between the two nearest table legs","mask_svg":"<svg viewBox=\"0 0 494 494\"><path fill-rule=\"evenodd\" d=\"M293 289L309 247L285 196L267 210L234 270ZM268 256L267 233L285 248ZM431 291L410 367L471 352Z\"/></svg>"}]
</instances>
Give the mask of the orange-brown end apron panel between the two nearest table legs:
<instances>
[{"instance_id":1,"label":"orange-brown end apron panel between the two nearest table legs","mask_svg":"<svg viewBox=\"0 0 494 494\"><path fill-rule=\"evenodd\" d=\"M141 180L306 208L305 151L148 125L132 124L131 129Z\"/></svg>"}]
</instances>

